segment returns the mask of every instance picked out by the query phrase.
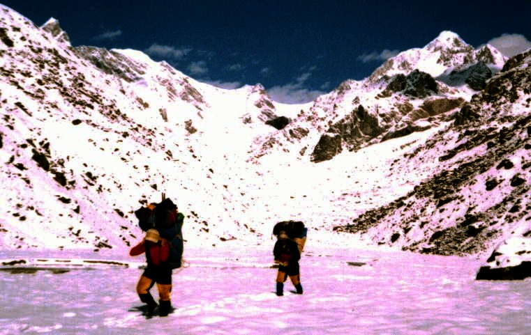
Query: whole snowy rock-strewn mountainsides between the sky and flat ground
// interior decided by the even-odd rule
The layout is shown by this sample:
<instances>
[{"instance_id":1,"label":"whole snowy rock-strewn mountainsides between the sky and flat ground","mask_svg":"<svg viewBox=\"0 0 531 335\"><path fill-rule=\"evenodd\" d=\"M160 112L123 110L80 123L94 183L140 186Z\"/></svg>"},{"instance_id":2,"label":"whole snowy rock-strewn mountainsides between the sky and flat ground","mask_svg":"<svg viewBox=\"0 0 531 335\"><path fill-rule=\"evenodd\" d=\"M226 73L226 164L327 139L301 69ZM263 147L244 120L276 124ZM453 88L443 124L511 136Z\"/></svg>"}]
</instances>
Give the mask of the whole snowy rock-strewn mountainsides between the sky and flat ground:
<instances>
[{"instance_id":1,"label":"whole snowy rock-strewn mountainsides between the sky and flat ground","mask_svg":"<svg viewBox=\"0 0 531 335\"><path fill-rule=\"evenodd\" d=\"M529 230L525 54L443 32L285 105L260 84L223 90L142 52L73 47L56 20L0 6L0 21L4 249L122 252L160 192L198 245L262 244L283 219L315 242L336 227L436 254Z\"/></svg>"}]
</instances>

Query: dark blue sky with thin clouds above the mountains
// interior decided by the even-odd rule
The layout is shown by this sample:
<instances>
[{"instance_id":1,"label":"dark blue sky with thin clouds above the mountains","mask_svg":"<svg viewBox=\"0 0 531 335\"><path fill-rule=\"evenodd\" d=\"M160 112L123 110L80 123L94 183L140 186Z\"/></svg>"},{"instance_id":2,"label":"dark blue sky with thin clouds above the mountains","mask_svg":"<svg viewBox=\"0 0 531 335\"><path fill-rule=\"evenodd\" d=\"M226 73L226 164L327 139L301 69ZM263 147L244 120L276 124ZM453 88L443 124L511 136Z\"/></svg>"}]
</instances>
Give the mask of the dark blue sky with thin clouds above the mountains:
<instances>
[{"instance_id":1,"label":"dark blue sky with thin clouds above the mountains","mask_svg":"<svg viewBox=\"0 0 531 335\"><path fill-rule=\"evenodd\" d=\"M529 47L531 1L0 0L74 46L137 49L218 86L260 83L300 101L363 79L385 56L441 31L474 47L504 34ZM507 37L507 36L506 36ZM386 52L387 51L387 52Z\"/></svg>"}]
</instances>

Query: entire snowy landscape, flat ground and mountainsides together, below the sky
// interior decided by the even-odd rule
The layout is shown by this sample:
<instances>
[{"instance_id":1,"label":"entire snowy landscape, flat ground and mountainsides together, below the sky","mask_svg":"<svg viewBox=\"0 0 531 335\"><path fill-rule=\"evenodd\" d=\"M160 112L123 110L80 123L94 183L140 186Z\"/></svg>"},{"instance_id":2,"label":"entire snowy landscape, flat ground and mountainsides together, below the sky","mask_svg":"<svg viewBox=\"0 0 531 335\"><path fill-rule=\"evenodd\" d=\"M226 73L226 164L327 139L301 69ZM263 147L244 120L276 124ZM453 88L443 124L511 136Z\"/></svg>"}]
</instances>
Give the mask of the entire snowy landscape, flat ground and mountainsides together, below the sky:
<instances>
[{"instance_id":1,"label":"entire snowy landscape, flat ground and mountainsides together, below the sky","mask_svg":"<svg viewBox=\"0 0 531 335\"><path fill-rule=\"evenodd\" d=\"M530 280L475 280L509 237L499 259L531 254L531 51L447 31L285 105L73 47L57 20L0 5L0 23L0 335L531 334ZM174 312L147 319L128 249L161 193L186 266ZM308 228L304 295L277 297L270 233L289 219Z\"/></svg>"}]
</instances>

